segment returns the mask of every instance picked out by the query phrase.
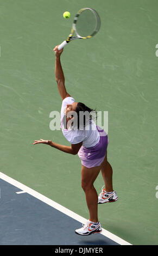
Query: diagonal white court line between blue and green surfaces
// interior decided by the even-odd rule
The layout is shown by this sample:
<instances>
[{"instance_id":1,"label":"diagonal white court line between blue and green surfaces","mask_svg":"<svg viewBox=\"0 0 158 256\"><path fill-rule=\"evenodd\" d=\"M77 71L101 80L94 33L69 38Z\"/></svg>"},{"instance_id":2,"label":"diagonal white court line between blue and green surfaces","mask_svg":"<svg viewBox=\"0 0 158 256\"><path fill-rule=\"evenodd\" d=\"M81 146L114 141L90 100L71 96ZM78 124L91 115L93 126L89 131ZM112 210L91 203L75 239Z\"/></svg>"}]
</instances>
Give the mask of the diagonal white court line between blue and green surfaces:
<instances>
[{"instance_id":1,"label":"diagonal white court line between blue and green surfaces","mask_svg":"<svg viewBox=\"0 0 158 256\"><path fill-rule=\"evenodd\" d=\"M86 223L87 222L86 218L81 217L78 214L75 214L75 212L73 212L71 210L68 210L64 206L54 202L53 200L49 199L48 197L43 196L39 192L36 192L35 190L32 190L30 187L27 187L26 185L23 185L21 182L18 182L17 180L14 180L14 179L10 178L9 176L5 175L2 172L0 172L0 178L2 180L7 181L8 183L10 183L13 186L20 188L22 191L27 192L28 194L30 194L31 196L41 200L42 202L52 206L56 210L61 211L62 213L68 215L71 218L73 218L74 220L79 221L81 223ZM101 235L104 235L104 236L108 237L109 239L115 241L116 243L119 243L119 245L131 245L131 243L121 239L120 237L118 237L114 234L112 234L108 230L106 230L104 228L102 228L102 230L103 230L102 233L100 233Z\"/></svg>"}]
</instances>

